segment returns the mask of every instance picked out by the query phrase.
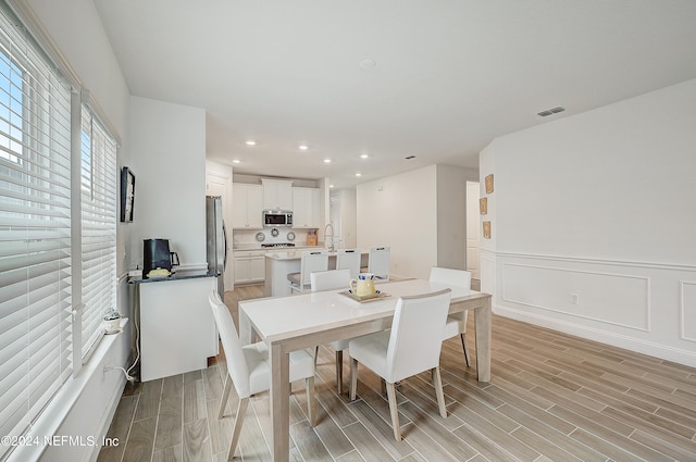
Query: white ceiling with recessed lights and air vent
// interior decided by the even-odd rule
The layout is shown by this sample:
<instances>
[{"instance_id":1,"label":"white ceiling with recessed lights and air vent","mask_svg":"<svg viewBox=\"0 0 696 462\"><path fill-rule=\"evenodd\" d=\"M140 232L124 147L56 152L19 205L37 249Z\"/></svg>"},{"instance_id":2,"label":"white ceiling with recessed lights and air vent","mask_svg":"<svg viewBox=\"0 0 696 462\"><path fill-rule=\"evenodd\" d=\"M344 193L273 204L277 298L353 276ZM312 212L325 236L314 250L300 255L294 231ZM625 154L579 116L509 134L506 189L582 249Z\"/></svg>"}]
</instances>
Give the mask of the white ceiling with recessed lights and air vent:
<instances>
[{"instance_id":1,"label":"white ceiling with recessed lights and air vent","mask_svg":"<svg viewBox=\"0 0 696 462\"><path fill-rule=\"evenodd\" d=\"M693 0L95 4L132 95L206 109L208 159L336 188L696 77Z\"/></svg>"}]
</instances>

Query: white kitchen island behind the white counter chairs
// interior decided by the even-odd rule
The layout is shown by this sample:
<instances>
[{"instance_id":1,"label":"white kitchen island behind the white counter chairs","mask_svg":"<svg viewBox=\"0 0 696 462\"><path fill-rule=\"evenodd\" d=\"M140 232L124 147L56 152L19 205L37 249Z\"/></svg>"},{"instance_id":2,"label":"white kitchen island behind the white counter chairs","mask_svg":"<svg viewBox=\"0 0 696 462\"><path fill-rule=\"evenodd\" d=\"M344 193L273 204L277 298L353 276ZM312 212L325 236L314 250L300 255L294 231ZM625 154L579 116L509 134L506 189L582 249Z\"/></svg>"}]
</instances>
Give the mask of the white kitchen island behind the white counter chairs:
<instances>
[{"instance_id":1,"label":"white kitchen island behind the white counter chairs","mask_svg":"<svg viewBox=\"0 0 696 462\"><path fill-rule=\"evenodd\" d=\"M265 254L265 286L263 295L266 297L282 297L290 295L289 273L299 273L302 252L309 249L279 250ZM323 249L322 249L323 250ZM360 267L368 266L366 250L360 251ZM336 269L336 251L328 253L328 269Z\"/></svg>"}]
</instances>

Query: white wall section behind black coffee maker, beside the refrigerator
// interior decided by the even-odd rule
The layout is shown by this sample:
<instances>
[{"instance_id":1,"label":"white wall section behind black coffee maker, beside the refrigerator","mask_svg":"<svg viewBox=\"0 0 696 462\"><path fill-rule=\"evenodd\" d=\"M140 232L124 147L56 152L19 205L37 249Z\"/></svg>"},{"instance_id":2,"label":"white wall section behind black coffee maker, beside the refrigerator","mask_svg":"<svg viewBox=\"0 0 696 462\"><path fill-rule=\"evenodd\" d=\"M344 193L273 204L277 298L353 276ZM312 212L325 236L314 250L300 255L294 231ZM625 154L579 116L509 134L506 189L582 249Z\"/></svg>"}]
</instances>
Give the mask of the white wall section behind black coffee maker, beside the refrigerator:
<instances>
[{"instance_id":1,"label":"white wall section behind black coffee maker, beside the refrigerator","mask_svg":"<svg viewBox=\"0 0 696 462\"><path fill-rule=\"evenodd\" d=\"M208 267L206 255L206 111L130 99L132 166L136 175L132 261L142 239L170 239L182 267Z\"/></svg>"}]
</instances>

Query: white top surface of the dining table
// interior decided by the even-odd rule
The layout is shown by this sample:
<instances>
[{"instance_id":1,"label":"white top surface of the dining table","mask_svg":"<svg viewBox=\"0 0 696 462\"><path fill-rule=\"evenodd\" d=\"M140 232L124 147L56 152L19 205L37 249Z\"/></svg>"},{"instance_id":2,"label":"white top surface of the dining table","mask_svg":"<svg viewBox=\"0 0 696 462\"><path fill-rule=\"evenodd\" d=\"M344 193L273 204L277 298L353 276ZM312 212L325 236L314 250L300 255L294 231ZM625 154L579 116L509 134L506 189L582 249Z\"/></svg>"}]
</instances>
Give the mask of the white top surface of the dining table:
<instances>
[{"instance_id":1,"label":"white top surface of the dining table","mask_svg":"<svg viewBox=\"0 0 696 462\"><path fill-rule=\"evenodd\" d=\"M378 290L390 297L376 301L361 303L340 295L341 290L328 290L240 301L239 310L263 340L274 341L382 319L394 312L401 296L427 294L447 287L422 279L408 279L380 284ZM452 287L451 301L463 301L474 295L478 292Z\"/></svg>"}]
</instances>

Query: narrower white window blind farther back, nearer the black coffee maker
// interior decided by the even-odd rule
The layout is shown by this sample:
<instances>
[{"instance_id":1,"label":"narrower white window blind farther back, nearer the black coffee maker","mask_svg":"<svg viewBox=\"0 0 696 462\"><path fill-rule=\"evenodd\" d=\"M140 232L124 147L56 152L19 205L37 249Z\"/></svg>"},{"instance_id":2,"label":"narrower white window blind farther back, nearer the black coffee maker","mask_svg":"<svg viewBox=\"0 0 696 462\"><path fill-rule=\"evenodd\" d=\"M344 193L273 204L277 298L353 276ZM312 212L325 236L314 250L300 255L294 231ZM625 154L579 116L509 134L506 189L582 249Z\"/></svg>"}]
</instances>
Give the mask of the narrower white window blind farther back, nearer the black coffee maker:
<instances>
[{"instance_id":1,"label":"narrower white window blind farther back, nearer the black coffee maker","mask_svg":"<svg viewBox=\"0 0 696 462\"><path fill-rule=\"evenodd\" d=\"M116 303L116 143L87 105L82 109L83 361L103 335Z\"/></svg>"}]
</instances>

